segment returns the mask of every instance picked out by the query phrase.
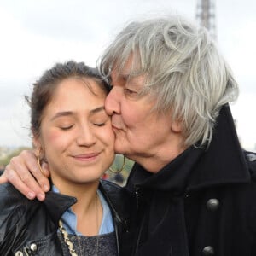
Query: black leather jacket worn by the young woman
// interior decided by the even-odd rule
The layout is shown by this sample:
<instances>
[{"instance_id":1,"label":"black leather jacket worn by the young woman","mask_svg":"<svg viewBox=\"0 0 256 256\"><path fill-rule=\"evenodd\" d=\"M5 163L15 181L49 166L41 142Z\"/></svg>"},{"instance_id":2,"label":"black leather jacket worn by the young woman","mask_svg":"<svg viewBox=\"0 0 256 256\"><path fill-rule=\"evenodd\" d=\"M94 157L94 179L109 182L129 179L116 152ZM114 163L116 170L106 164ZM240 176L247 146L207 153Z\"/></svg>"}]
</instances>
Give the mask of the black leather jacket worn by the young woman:
<instances>
[{"instance_id":1,"label":"black leather jacket worn by the young woman","mask_svg":"<svg viewBox=\"0 0 256 256\"><path fill-rule=\"evenodd\" d=\"M101 181L99 189L113 214L119 255L120 237L126 232L128 211L125 192ZM49 191L45 201L29 201L11 184L0 185L0 255L62 255L57 237L58 221L76 199Z\"/></svg>"}]
</instances>

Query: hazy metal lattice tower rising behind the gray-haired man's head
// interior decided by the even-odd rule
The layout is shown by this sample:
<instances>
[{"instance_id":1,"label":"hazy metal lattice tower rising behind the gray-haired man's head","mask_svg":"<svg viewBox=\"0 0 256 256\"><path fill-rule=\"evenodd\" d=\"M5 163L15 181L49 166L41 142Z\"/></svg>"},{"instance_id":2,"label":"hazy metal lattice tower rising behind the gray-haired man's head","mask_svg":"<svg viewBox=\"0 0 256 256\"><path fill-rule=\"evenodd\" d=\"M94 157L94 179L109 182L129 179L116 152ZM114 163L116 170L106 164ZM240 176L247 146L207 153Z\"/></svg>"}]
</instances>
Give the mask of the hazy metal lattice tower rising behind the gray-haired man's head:
<instances>
[{"instance_id":1,"label":"hazy metal lattice tower rising behind the gray-haired man's head","mask_svg":"<svg viewBox=\"0 0 256 256\"><path fill-rule=\"evenodd\" d=\"M215 0L198 0L196 20L200 26L205 26L212 38L217 39Z\"/></svg>"}]
</instances>

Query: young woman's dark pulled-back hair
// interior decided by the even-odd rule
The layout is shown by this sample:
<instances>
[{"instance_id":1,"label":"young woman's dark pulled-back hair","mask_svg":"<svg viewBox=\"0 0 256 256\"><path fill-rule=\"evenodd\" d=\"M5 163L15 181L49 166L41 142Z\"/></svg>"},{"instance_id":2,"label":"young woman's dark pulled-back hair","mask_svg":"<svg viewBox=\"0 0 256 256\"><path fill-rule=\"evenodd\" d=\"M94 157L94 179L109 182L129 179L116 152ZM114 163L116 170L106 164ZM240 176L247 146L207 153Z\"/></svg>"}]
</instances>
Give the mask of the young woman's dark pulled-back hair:
<instances>
[{"instance_id":1,"label":"young woman's dark pulled-back hair","mask_svg":"<svg viewBox=\"0 0 256 256\"><path fill-rule=\"evenodd\" d=\"M26 102L31 108L31 130L34 136L39 136L44 108L51 101L57 85L70 78L94 79L97 84L102 85L102 90L106 94L109 91L108 84L102 79L96 68L88 67L84 62L56 63L33 84L32 96L30 98L26 96Z\"/></svg>"}]
</instances>

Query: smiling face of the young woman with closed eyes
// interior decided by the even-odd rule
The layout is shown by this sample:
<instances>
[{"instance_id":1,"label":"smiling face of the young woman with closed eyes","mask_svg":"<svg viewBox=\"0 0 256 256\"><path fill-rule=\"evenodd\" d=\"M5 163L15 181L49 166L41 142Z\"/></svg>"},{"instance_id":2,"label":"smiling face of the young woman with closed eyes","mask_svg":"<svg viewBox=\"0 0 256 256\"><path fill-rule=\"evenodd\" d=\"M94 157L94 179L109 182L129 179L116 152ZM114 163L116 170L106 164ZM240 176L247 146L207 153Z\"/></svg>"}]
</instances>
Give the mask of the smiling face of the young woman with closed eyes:
<instances>
[{"instance_id":1,"label":"smiling face of the young woman with closed eyes","mask_svg":"<svg viewBox=\"0 0 256 256\"><path fill-rule=\"evenodd\" d=\"M105 97L93 79L65 79L44 109L38 142L59 189L64 183L95 182L113 162L114 134Z\"/></svg>"}]
</instances>

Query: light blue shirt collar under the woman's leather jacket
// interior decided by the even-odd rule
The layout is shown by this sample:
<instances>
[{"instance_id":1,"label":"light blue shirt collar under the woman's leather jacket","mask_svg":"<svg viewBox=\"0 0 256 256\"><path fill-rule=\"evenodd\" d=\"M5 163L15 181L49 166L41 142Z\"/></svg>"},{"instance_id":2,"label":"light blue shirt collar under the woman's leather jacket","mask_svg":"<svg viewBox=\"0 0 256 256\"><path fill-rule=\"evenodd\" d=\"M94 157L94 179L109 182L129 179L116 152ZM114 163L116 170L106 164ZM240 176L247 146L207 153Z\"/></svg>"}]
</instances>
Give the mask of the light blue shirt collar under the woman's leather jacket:
<instances>
[{"instance_id":1,"label":"light blue shirt collar under the woman's leather jacket","mask_svg":"<svg viewBox=\"0 0 256 256\"><path fill-rule=\"evenodd\" d=\"M60 193L59 190L53 185L52 191L55 193ZM104 199L102 193L100 190L97 190L97 194L100 198L100 201L102 203L103 208L103 217L102 217L102 224L99 230L99 235L108 234L110 232L113 232L113 218L112 214L110 212L110 209L108 207L107 201ZM67 230L68 234L71 235L82 235L77 230L77 216L72 211L72 208L69 207L66 212L63 213L61 217L63 226L65 230Z\"/></svg>"}]
</instances>

